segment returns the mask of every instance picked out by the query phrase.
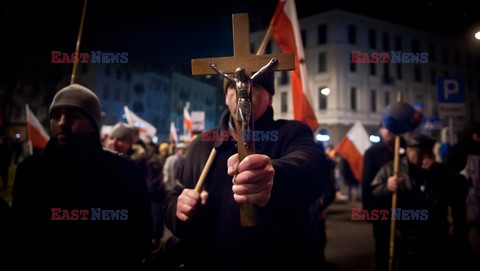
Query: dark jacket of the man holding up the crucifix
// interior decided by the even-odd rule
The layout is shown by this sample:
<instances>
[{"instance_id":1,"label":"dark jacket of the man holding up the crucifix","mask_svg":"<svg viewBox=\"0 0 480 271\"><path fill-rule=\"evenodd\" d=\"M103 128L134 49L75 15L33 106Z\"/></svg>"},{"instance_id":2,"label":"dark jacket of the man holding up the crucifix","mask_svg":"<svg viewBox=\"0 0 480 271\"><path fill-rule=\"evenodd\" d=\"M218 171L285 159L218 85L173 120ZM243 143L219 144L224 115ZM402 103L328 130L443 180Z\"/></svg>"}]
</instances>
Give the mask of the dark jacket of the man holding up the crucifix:
<instances>
[{"instance_id":1,"label":"dark jacket of the man holding up the crucifix","mask_svg":"<svg viewBox=\"0 0 480 271\"><path fill-rule=\"evenodd\" d=\"M220 131L228 130L229 118L226 111ZM308 264L302 260L308 253L308 207L320 195L322 179L331 177L326 157L306 125L274 121L271 108L255 123L255 130L278 131L278 141L256 142L256 153L268 155L275 169L270 201L257 208L258 226L240 227L239 205L233 199L232 177L227 175L227 159L237 152L233 141L215 142L217 156L204 185L207 204L191 222L175 216L183 188L167 196L167 226L186 244L186 263L193 270L275 270ZM180 174L186 188L195 186L214 146L201 138L189 147Z\"/></svg>"}]
</instances>

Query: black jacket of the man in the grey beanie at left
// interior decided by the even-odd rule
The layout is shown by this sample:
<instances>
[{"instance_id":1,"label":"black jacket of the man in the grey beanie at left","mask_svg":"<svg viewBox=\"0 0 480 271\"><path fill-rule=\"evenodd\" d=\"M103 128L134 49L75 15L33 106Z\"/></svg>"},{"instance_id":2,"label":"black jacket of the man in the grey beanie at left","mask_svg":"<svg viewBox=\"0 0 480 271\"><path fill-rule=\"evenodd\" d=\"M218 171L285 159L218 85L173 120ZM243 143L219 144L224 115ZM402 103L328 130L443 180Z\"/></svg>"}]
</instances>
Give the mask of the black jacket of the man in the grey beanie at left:
<instances>
[{"instance_id":1,"label":"black jacket of the man in the grey beanie at left","mask_svg":"<svg viewBox=\"0 0 480 271\"><path fill-rule=\"evenodd\" d=\"M42 155L17 168L12 204L17 264L24 259L38 265L139 264L151 240L144 180L128 158L103 150L97 135L68 150L51 139ZM88 220L52 220L52 208L88 210ZM102 220L93 220L92 208L128 210L127 219L106 220L102 214Z\"/></svg>"}]
</instances>

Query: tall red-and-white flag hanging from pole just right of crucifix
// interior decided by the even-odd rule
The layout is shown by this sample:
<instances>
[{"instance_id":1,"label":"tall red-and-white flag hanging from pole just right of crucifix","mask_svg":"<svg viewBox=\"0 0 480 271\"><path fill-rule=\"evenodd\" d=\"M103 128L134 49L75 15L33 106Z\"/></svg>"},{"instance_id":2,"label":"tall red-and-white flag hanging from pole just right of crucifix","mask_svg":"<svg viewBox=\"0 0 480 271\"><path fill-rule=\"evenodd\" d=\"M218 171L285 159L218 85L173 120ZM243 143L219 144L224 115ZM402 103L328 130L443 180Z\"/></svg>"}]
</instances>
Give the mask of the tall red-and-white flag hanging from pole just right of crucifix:
<instances>
[{"instance_id":1,"label":"tall red-and-white flag hanging from pole just right of crucifix","mask_svg":"<svg viewBox=\"0 0 480 271\"><path fill-rule=\"evenodd\" d=\"M313 99L308 87L307 65L303 51L302 36L298 24L294 0L280 0L270 24L273 26L273 39L282 53L295 55L295 70L291 72L293 118L310 126L312 131L318 128L313 110Z\"/></svg>"}]
</instances>

